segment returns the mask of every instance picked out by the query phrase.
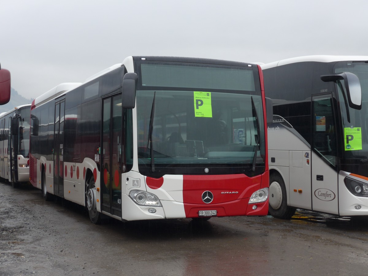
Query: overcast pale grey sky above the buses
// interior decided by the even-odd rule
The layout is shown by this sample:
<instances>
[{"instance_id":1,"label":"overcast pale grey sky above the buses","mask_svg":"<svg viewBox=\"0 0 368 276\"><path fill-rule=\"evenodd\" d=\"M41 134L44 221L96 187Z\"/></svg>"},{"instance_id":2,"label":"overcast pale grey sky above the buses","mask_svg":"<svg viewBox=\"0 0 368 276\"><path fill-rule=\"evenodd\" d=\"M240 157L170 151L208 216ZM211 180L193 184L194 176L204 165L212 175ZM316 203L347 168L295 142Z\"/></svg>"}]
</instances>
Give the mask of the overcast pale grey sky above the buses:
<instances>
[{"instance_id":1,"label":"overcast pale grey sky above the buses","mask_svg":"<svg viewBox=\"0 0 368 276\"><path fill-rule=\"evenodd\" d=\"M36 98L125 57L368 55L365 0L0 0L0 63Z\"/></svg>"}]
</instances>

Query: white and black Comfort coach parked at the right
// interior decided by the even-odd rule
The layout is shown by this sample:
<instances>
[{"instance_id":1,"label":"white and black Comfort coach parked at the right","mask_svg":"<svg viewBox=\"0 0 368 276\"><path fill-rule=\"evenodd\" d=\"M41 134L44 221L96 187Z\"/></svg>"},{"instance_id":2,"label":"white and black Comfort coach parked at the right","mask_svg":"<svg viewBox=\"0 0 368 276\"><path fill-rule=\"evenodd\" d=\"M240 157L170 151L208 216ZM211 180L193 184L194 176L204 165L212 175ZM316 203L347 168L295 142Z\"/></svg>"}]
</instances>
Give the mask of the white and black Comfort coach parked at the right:
<instances>
[{"instance_id":1,"label":"white and black Comfort coach parked at the right","mask_svg":"<svg viewBox=\"0 0 368 276\"><path fill-rule=\"evenodd\" d=\"M368 215L368 56L305 56L261 67L274 114L269 213Z\"/></svg>"}]
</instances>

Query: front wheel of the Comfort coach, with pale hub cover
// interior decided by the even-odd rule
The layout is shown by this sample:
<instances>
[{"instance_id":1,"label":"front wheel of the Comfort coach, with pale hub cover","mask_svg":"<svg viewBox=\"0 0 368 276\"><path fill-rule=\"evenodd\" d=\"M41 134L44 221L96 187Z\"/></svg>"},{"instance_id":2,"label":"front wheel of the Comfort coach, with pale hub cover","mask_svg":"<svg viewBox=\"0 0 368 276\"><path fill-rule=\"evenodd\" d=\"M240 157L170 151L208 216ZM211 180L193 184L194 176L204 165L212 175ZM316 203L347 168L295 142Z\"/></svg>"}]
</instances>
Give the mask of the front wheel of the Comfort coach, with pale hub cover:
<instances>
[{"instance_id":1,"label":"front wheel of the Comfort coach, with pale hub cover","mask_svg":"<svg viewBox=\"0 0 368 276\"><path fill-rule=\"evenodd\" d=\"M279 219L291 219L296 208L287 206L285 183L278 174L270 175L269 191L268 212L270 215Z\"/></svg>"}]
</instances>

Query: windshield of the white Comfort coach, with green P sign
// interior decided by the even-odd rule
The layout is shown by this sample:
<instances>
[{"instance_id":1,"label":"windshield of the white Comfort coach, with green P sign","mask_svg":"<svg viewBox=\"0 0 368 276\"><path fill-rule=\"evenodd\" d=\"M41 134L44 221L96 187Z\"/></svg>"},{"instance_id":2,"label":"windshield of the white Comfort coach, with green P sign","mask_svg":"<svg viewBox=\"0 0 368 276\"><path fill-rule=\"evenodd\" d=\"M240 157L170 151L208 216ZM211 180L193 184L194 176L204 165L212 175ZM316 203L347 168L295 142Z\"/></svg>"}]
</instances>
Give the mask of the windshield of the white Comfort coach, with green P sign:
<instances>
[{"instance_id":1,"label":"windshield of the white Comfort coach, with green P sign","mask_svg":"<svg viewBox=\"0 0 368 276\"><path fill-rule=\"evenodd\" d=\"M364 61L339 61L334 72L351 72L358 76L362 91L361 110L352 109L347 103L346 91L343 81L337 82L339 91L340 110L344 131L343 158L368 158L368 64ZM350 141L353 135L354 141ZM347 138L346 138L347 137Z\"/></svg>"}]
</instances>

